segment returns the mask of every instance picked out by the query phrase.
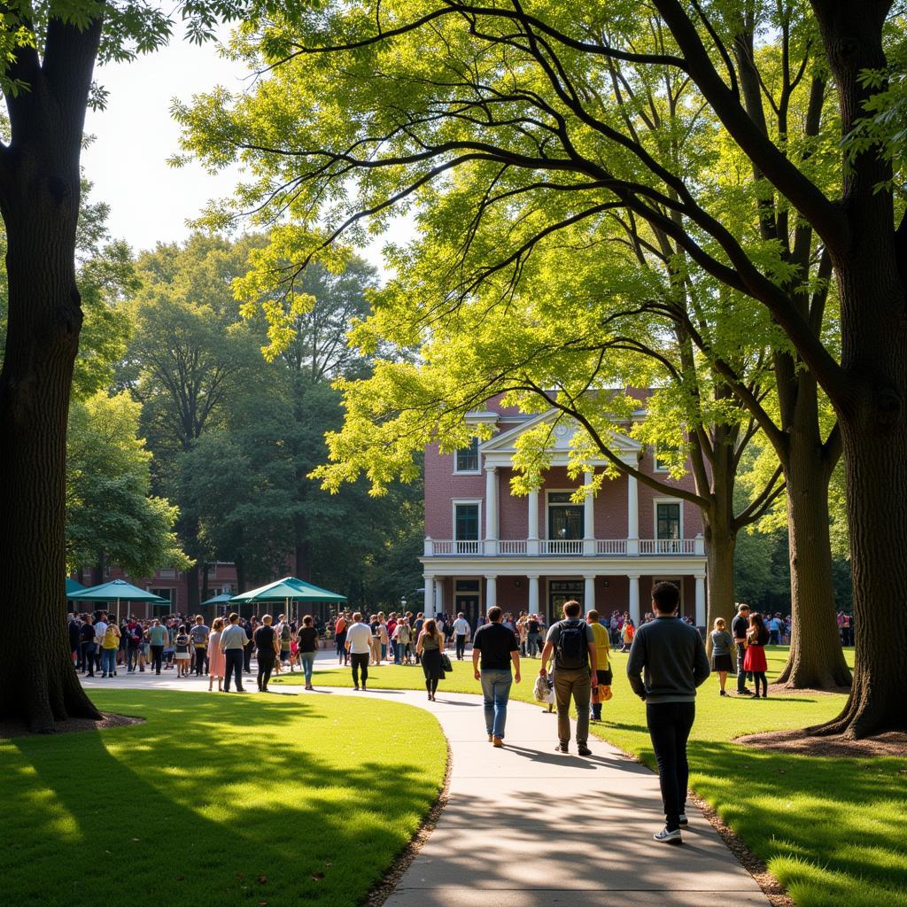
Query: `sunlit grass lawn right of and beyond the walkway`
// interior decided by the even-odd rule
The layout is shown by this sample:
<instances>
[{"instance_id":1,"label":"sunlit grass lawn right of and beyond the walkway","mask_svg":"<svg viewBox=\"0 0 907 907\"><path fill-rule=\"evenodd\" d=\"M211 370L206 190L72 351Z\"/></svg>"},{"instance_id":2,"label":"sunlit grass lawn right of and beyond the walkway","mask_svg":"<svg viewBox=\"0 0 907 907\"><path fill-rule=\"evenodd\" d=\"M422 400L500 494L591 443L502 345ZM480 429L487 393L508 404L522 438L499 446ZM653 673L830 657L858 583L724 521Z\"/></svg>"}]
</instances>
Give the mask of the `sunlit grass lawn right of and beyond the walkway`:
<instances>
[{"instance_id":1,"label":"sunlit grass lawn right of and beyond the walkway","mask_svg":"<svg viewBox=\"0 0 907 907\"><path fill-rule=\"evenodd\" d=\"M785 647L767 650L769 671ZM846 650L853 663L853 649ZM655 767L645 706L627 682L626 656L612 657L614 698L593 731ZM532 701L538 661L524 661L513 697ZM478 693L472 663L453 662L439 692ZM295 683L297 678L282 678ZM301 682L298 681L298 682ZM348 670L319 671L315 685L351 686ZM421 668L370 669L372 688L423 688ZM728 678L728 689L734 678ZM767 700L718 697L709 678L697 699L689 747L691 786L785 884L799 907L907 907L907 758L842 759L769 753L731 741L761 731L806 727L834 717L840 695ZM540 720L549 720L548 718ZM552 728L553 732L553 728Z\"/></svg>"}]
</instances>

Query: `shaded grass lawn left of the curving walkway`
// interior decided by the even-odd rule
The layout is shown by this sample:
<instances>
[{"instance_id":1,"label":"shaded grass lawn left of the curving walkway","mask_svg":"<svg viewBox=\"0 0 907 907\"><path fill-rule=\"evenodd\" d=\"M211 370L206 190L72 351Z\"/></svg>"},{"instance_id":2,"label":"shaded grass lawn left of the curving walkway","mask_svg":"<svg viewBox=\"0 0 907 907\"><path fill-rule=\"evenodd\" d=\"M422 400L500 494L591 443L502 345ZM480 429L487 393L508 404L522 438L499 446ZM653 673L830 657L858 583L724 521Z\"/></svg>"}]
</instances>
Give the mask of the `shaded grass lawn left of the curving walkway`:
<instances>
[{"instance_id":1,"label":"shaded grass lawn left of the curving walkway","mask_svg":"<svg viewBox=\"0 0 907 907\"><path fill-rule=\"evenodd\" d=\"M352 907L444 780L437 720L396 703L93 700L147 721L0 740L0 902Z\"/></svg>"}]
</instances>

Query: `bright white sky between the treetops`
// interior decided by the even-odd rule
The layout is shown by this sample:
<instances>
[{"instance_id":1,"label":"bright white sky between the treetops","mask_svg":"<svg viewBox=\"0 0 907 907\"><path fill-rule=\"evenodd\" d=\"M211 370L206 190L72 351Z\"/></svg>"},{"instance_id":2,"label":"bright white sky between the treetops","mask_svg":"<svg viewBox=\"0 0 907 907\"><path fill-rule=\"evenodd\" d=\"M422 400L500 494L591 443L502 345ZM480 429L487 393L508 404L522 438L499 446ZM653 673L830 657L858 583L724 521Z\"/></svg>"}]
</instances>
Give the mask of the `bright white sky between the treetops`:
<instances>
[{"instance_id":1,"label":"bright white sky between the treetops","mask_svg":"<svg viewBox=\"0 0 907 907\"><path fill-rule=\"evenodd\" d=\"M83 169L93 182L91 198L110 205L113 238L125 239L136 252L185 239L190 233L186 220L208 200L230 194L239 171L211 176L196 163L168 166L167 159L180 151L171 100L188 101L218 84L242 90L249 84L247 75L241 63L220 57L214 44L199 47L178 39L132 63L96 70L95 81L109 96L105 110L86 117L85 132L94 141L83 151ZM401 232L392 229L391 235L399 239ZM378 268L384 241L362 250Z\"/></svg>"}]
</instances>

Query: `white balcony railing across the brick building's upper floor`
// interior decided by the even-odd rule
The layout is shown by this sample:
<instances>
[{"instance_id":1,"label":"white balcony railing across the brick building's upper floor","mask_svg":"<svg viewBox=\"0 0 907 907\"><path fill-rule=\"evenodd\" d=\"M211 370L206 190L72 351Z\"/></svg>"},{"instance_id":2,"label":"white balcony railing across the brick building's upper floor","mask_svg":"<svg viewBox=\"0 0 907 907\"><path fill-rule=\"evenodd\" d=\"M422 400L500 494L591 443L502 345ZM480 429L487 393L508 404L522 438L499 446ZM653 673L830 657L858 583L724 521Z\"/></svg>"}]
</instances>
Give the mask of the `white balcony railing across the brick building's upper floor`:
<instances>
[{"instance_id":1,"label":"white balcony railing across the brick building's upper floor","mask_svg":"<svg viewBox=\"0 0 907 907\"><path fill-rule=\"evenodd\" d=\"M428 557L660 557L668 555L703 555L702 536L695 539L500 539L497 541L462 539L425 539Z\"/></svg>"}]
</instances>

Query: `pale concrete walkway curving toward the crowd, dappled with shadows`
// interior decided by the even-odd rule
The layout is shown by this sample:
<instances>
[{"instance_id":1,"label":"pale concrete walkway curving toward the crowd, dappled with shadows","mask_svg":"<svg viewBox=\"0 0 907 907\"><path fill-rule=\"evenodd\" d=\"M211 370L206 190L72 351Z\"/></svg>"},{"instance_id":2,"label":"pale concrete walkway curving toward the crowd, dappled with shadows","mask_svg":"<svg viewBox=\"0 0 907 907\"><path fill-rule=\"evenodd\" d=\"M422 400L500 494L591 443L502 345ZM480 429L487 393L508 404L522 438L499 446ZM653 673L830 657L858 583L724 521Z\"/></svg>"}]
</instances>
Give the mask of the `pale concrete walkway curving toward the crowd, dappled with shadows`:
<instances>
[{"instance_id":1,"label":"pale concrete walkway curving toward the crowd, dappled with shadows","mask_svg":"<svg viewBox=\"0 0 907 907\"><path fill-rule=\"evenodd\" d=\"M208 684L121 673L85 686L198 690ZM555 753L556 717L541 707L512 702L505 747L495 749L485 736L481 699L444 693L443 684L434 703L409 690L272 687L278 689L407 703L427 708L444 729L453 753L448 802L386 907L768 904L695 806L688 806L682 847L653 842L664 825L658 777L594 738L592 756L576 756L575 746L570 756Z\"/></svg>"}]
</instances>

